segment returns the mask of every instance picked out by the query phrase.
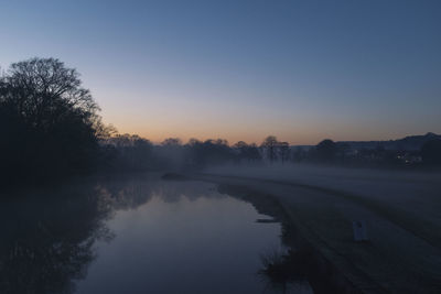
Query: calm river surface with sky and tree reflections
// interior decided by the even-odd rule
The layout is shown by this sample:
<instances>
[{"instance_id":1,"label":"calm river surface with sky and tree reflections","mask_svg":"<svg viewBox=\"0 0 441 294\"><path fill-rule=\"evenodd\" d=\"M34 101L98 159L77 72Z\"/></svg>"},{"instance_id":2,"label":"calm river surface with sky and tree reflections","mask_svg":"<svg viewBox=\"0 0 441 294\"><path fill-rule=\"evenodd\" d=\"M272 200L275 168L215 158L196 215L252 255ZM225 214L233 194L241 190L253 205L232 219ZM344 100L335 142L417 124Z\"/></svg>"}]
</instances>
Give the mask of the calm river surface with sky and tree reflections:
<instances>
[{"instance_id":1,"label":"calm river surface with sky and tree reflections","mask_svg":"<svg viewBox=\"0 0 441 294\"><path fill-rule=\"evenodd\" d=\"M77 181L1 206L0 293L279 293L280 224L202 182ZM311 293L306 282L289 292Z\"/></svg>"}]
</instances>

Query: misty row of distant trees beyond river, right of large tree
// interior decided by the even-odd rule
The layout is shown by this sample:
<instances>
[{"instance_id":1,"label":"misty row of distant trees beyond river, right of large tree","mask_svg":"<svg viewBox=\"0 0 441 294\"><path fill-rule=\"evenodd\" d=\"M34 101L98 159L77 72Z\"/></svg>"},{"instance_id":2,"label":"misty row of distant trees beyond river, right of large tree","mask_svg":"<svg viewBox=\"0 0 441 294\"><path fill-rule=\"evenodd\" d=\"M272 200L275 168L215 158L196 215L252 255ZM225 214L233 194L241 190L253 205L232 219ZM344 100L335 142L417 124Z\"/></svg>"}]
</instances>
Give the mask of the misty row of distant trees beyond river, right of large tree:
<instances>
[{"instance_id":1,"label":"misty row of distant trees beyond river, right of large tree","mask_svg":"<svg viewBox=\"0 0 441 294\"><path fill-rule=\"evenodd\" d=\"M101 146L108 160L107 168L118 170L178 170L201 168L225 163L259 164L288 162L289 144L269 135L261 145L239 141L229 145L227 140L165 139L160 144L133 134L116 134L103 140Z\"/></svg>"}]
</instances>

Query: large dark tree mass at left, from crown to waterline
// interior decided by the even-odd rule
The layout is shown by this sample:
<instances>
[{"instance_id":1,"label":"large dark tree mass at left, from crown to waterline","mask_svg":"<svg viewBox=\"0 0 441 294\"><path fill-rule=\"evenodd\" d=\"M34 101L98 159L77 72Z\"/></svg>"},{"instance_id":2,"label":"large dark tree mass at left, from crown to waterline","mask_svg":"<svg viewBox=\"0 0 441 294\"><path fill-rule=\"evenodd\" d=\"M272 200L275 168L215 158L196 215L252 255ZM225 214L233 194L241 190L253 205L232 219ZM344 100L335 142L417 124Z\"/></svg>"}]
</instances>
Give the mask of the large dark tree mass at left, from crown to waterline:
<instances>
[{"instance_id":1,"label":"large dark tree mass at left, from crown to waterline","mask_svg":"<svg viewBox=\"0 0 441 294\"><path fill-rule=\"evenodd\" d=\"M14 63L0 77L0 175L22 179L90 168L108 129L79 74L55 58Z\"/></svg>"}]
</instances>

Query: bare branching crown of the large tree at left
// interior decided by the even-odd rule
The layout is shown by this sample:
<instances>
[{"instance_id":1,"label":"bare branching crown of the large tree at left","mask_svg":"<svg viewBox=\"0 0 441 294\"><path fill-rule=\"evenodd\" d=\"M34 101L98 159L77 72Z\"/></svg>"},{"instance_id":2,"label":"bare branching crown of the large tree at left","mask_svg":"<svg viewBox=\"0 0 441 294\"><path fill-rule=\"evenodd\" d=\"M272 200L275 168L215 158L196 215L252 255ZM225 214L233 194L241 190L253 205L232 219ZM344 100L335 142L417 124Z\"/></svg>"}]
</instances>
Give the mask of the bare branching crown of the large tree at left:
<instances>
[{"instance_id":1,"label":"bare branching crown of the large tree at left","mask_svg":"<svg viewBox=\"0 0 441 294\"><path fill-rule=\"evenodd\" d=\"M79 74L55 58L32 58L11 65L3 77L2 104L39 130L50 130L66 117L100 123L98 105L82 87Z\"/></svg>"}]
</instances>

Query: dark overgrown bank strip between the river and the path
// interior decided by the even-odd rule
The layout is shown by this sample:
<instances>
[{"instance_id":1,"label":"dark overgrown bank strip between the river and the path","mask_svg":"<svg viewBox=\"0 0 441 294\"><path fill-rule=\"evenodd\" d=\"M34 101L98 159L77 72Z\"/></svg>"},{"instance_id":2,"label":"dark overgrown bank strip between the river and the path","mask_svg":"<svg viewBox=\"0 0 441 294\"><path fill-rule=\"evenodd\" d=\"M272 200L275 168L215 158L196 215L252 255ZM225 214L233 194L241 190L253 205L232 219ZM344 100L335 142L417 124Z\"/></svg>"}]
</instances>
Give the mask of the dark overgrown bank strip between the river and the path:
<instances>
[{"instance_id":1,"label":"dark overgrown bank strip between the river and the path","mask_svg":"<svg viewBox=\"0 0 441 294\"><path fill-rule=\"evenodd\" d=\"M281 240L289 248L287 255L283 255L288 262L288 269L266 276L276 284L288 283L290 279L304 276L310 286L316 294L327 293L362 293L348 281L341 272L318 251L299 231L298 226L292 221L289 210L277 197L254 190L249 187L218 184L218 192L250 203L255 209L262 215L270 216L270 222L280 222L282 226ZM256 220L261 222L261 220ZM282 255L272 255L280 262ZM276 261L276 265L277 262Z\"/></svg>"}]
</instances>

